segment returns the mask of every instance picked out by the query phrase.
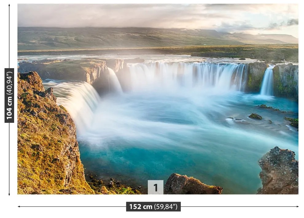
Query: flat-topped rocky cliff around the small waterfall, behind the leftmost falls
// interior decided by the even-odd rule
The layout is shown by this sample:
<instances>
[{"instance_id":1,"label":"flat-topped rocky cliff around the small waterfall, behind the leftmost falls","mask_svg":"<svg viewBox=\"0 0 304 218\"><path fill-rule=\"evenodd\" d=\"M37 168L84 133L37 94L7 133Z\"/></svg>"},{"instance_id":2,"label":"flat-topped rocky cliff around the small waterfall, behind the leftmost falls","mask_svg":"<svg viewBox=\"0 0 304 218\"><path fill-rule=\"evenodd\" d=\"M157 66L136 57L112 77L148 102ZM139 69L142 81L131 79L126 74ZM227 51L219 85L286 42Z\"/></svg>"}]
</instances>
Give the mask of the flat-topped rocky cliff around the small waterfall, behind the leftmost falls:
<instances>
[{"instance_id":1,"label":"flat-topped rocky cliff around the small waterfall, behind the leftmost falls","mask_svg":"<svg viewBox=\"0 0 304 218\"><path fill-rule=\"evenodd\" d=\"M111 68L118 75L119 82L122 84L124 91L126 91L128 90L127 84L130 84L130 72L127 63L142 61L144 60L140 58L126 60L101 58L84 58L80 60L44 59L20 62L18 72L36 71L41 78L85 81L91 84L101 95L111 91L108 68Z\"/></svg>"}]
</instances>

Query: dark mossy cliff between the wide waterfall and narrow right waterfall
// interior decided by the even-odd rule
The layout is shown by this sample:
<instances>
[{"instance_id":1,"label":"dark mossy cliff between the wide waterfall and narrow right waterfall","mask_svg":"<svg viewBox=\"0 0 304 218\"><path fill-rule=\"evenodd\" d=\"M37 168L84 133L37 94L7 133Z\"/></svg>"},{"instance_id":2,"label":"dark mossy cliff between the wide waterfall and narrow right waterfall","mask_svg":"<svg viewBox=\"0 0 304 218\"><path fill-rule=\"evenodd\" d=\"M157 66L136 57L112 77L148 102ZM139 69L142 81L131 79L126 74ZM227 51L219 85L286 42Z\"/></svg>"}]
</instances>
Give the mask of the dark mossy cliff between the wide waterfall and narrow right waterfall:
<instances>
[{"instance_id":1,"label":"dark mossy cliff between the wide waterfall and narrow right waterfall","mask_svg":"<svg viewBox=\"0 0 304 218\"><path fill-rule=\"evenodd\" d=\"M267 67L269 67L268 64L261 62L254 62L248 64L246 91L260 91L264 72Z\"/></svg>"}]
</instances>

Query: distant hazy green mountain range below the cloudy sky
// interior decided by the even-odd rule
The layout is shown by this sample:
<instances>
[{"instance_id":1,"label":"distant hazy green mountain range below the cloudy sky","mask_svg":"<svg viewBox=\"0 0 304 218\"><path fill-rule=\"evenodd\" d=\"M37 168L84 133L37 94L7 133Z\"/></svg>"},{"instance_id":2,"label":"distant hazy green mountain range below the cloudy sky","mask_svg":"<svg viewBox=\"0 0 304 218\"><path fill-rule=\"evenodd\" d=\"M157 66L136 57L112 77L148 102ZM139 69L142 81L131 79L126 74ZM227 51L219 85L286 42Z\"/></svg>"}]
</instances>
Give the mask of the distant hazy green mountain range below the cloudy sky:
<instances>
[{"instance_id":1,"label":"distant hazy green mountain range below the cloudy sky","mask_svg":"<svg viewBox=\"0 0 304 218\"><path fill-rule=\"evenodd\" d=\"M298 39L286 34L251 35L209 29L18 27L18 50L244 44L298 44Z\"/></svg>"}]
</instances>

